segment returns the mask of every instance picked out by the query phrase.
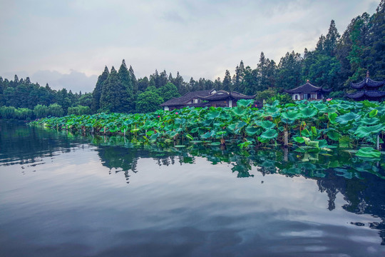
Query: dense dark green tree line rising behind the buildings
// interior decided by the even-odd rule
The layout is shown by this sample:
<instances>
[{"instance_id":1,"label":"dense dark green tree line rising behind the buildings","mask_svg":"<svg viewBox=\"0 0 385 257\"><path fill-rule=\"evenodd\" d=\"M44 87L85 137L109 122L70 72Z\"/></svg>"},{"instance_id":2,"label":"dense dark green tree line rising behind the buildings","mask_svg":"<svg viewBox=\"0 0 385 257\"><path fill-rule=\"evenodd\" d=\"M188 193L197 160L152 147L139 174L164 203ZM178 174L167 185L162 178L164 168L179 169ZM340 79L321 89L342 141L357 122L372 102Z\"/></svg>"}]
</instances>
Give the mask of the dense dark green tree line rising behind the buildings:
<instances>
[{"instance_id":1,"label":"dense dark green tree line rising behind the buildings","mask_svg":"<svg viewBox=\"0 0 385 257\"><path fill-rule=\"evenodd\" d=\"M235 74L225 71L223 79L193 79L184 81L166 71L136 79L132 66L123 60L118 71L106 66L90 94L73 94L62 89L52 90L32 84L29 78L14 81L0 77L0 106L33 110L35 106L58 104L63 114L76 113L70 108L88 106L93 112L148 112L159 108L164 101L183 96L190 91L224 89L266 98L304 84L307 79L316 86L332 88L332 97L342 97L351 91L350 82L360 81L369 71L371 78L385 79L385 0L376 13L356 16L342 35L332 20L326 36L321 35L313 51L304 54L287 52L276 64L262 52L255 69L243 61Z\"/></svg>"}]
</instances>

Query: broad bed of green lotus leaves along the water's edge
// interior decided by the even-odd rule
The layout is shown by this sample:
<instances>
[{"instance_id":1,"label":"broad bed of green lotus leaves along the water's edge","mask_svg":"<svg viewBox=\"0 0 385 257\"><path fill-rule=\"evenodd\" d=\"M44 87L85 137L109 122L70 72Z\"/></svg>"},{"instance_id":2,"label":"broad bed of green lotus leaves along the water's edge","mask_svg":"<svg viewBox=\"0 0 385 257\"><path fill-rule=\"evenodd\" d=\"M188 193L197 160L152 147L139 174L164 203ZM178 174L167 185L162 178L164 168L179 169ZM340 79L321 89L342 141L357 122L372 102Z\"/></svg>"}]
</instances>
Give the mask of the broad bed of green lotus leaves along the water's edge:
<instances>
[{"instance_id":1,"label":"broad bed of green lotus leaves along the water's edge","mask_svg":"<svg viewBox=\"0 0 385 257\"><path fill-rule=\"evenodd\" d=\"M379 158L385 131L385 105L362 101L274 101L263 109L252 100L235 108L185 108L150 114L93 114L46 118L32 124L56 130L123 134L133 143L185 147L237 144L241 149L288 145L297 151L309 148L358 149L357 156Z\"/></svg>"}]
</instances>

